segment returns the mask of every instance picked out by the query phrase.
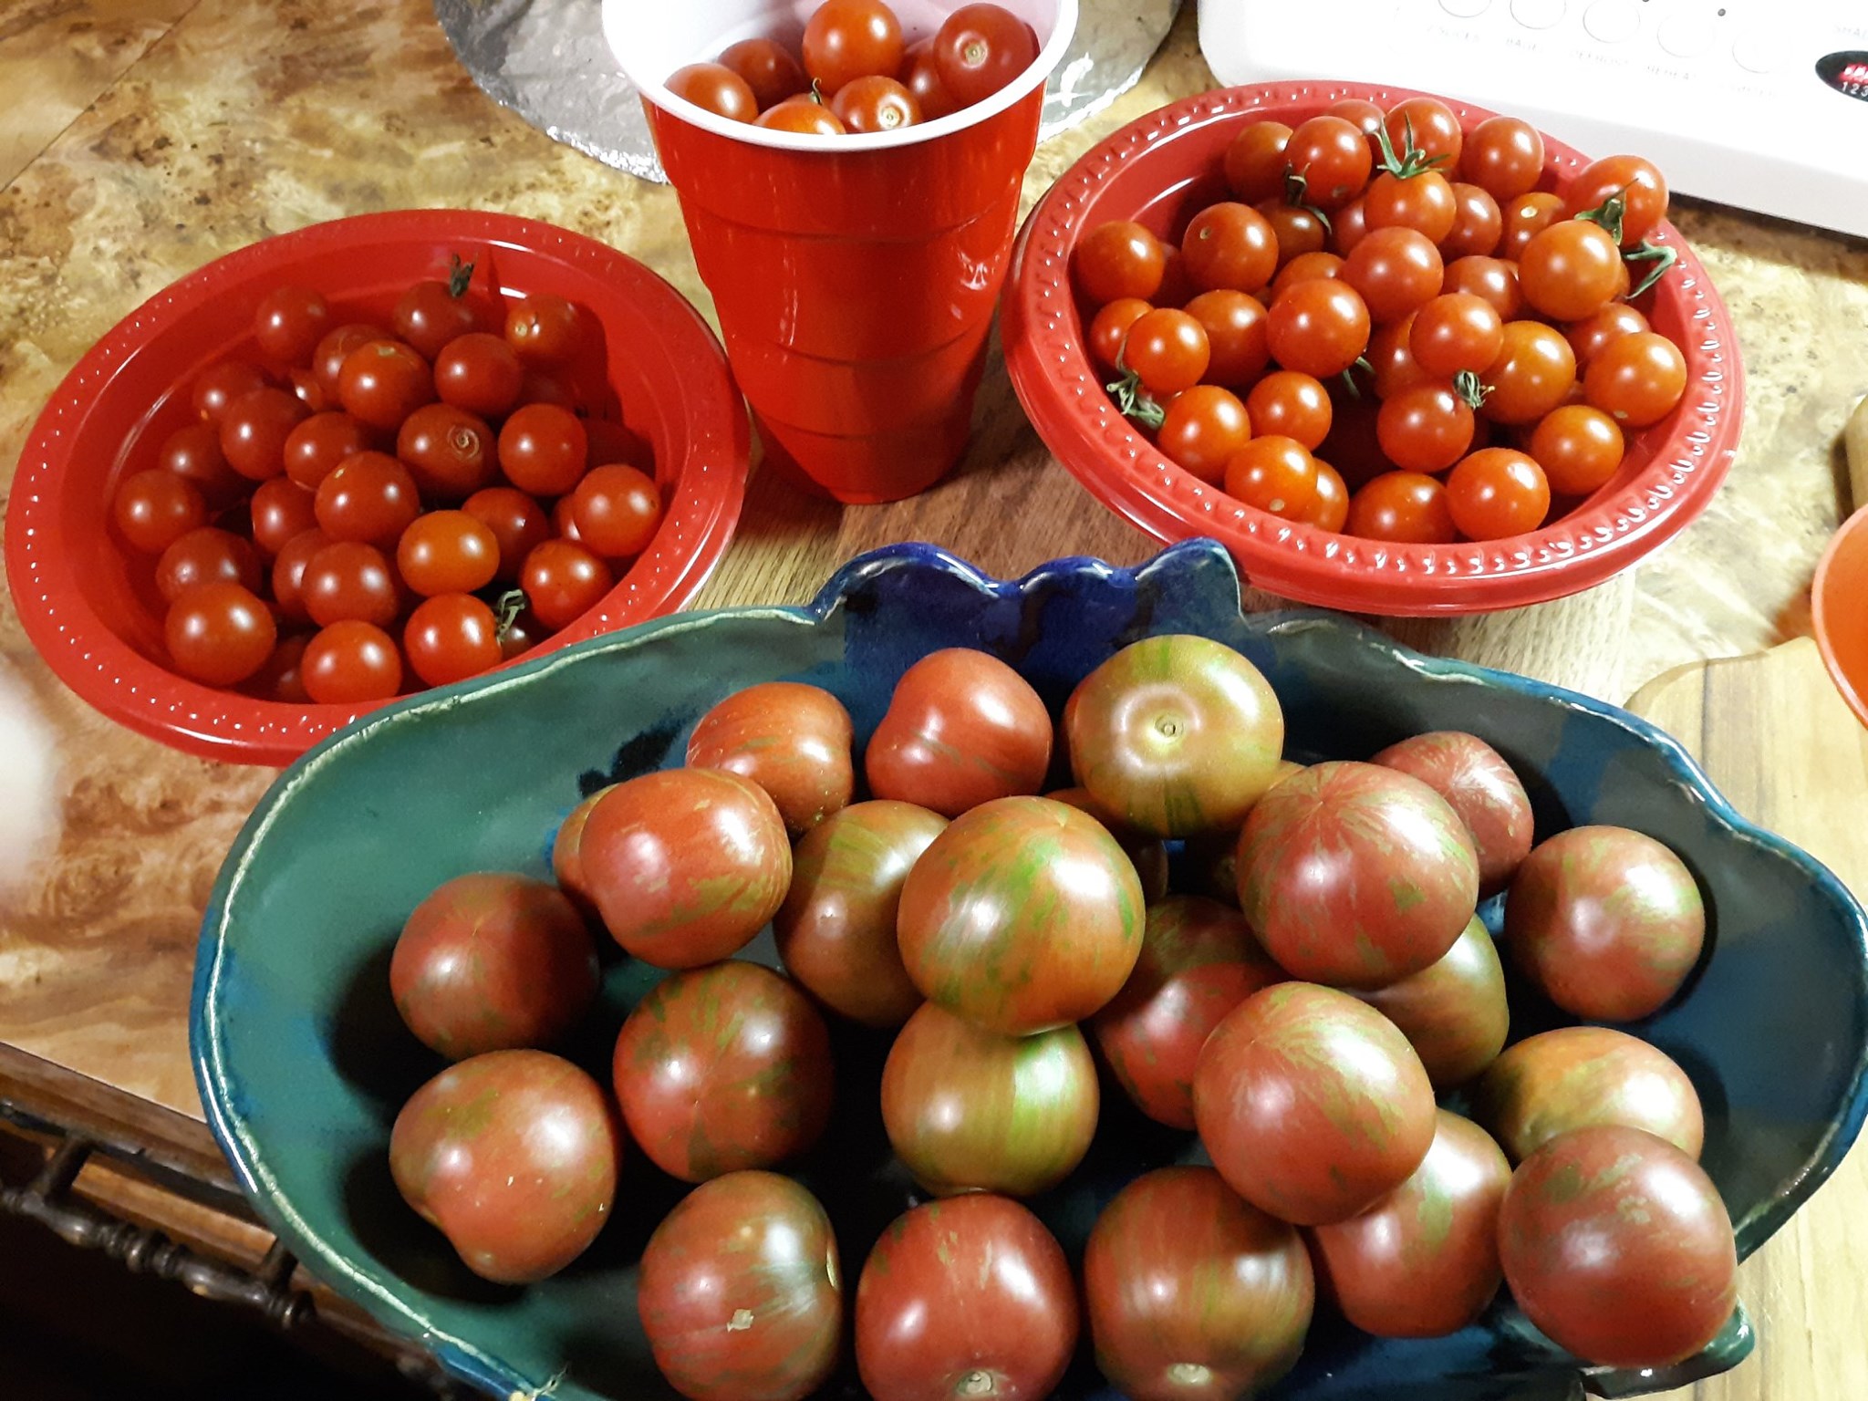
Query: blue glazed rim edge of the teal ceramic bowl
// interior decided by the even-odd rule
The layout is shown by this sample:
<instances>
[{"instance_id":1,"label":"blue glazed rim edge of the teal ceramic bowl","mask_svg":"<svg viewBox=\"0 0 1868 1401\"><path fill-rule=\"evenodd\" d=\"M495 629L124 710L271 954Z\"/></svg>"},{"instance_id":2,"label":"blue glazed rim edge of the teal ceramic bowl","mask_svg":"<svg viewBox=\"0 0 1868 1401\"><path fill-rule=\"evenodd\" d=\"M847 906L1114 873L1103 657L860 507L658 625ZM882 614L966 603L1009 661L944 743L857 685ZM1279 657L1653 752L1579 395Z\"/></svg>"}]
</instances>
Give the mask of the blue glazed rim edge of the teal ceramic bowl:
<instances>
[{"instance_id":1,"label":"blue glazed rim edge of the teal ceramic bowl","mask_svg":"<svg viewBox=\"0 0 1868 1401\"><path fill-rule=\"evenodd\" d=\"M902 572L908 572L902 579L891 579L893 575L902 575ZM250 1132L247 1097L239 1085L237 1067L226 1055L219 1020L220 977L230 953L224 917L235 887L248 870L256 846L262 842L278 809L291 801L295 786L306 777L314 777L316 770L338 751L362 743L374 730L394 725L398 717L411 712L428 708L448 710L474 691L521 687L529 678L551 669L577 665L579 658L592 652L626 652L646 644L665 631L704 628L714 618L736 616L745 620L770 618L803 626L824 624L839 609L848 607L854 615L859 607L872 603L878 585L900 585L917 579L930 581L932 575L938 575L943 587L964 588L969 598L977 600L981 615L988 609L998 609L1001 624L1007 618L1027 620L1031 616L1027 605L1048 598L1054 590L1072 581L1082 583L1087 579L1098 587L1130 588L1136 596L1158 600L1169 596L1166 594L1168 583L1186 585L1196 594L1218 594L1216 581L1229 579L1233 620L1248 628L1261 641L1280 637L1300 646L1306 633L1321 633L1324 637L1334 633L1347 639L1354 650L1367 648L1379 654L1380 665L1399 665L1438 682L1504 687L1539 704L1580 714L1597 723L1608 723L1638 747L1659 757L1668 786L1677 788L1687 803L1704 811L1709 826L1717 828L1720 841L1737 839L1763 848L1776 861L1788 863L1797 878L1812 887L1816 899L1827 910L1834 912L1836 928L1847 940L1855 960L1855 979L1849 996L1855 1007L1868 1007L1868 915L1864 915L1853 895L1806 852L1743 818L1676 740L1625 710L1530 678L1463 661L1427 658L1392 643L1362 624L1326 613L1291 611L1240 618L1237 603L1238 575L1231 559L1216 542L1199 540L1173 545L1136 570L1119 570L1093 559L1061 559L1033 570L1018 581L992 579L971 564L930 545L895 545L872 551L846 564L826 583L816 600L803 607L747 607L714 615L661 618L620 633L590 639L588 643L540 658L534 663L493 678L465 682L458 687L385 706L308 751L273 785L243 828L215 882L196 962L191 1042L209 1128L234 1164L243 1190L262 1218L271 1224L275 1233L314 1274L364 1302L390 1328L433 1349L443 1364L463 1380L489 1388L501 1395L531 1395L536 1392L536 1380L527 1380L514 1367L488 1354L486 1349L467 1337L435 1326L430 1317L424 1317L418 1308L400 1298L381 1278L372 1276L366 1268L353 1263L349 1255L334 1248L319 1227L308 1222L280 1190L276 1177L263 1160L260 1143ZM1192 607L1197 611L1203 605L1224 611L1224 603L1210 598L1199 598ZM1134 626L1139 631L1160 630L1151 628L1145 615ZM618 727L620 730L622 727ZM1857 1037L1846 1065L1836 1072L1834 1080L1846 1083L1840 1111L1834 1117L1819 1121L1825 1128L1814 1145L1808 1147L1804 1162L1795 1171L1773 1182L1769 1192L1735 1222L1741 1259L1762 1246L1829 1179L1861 1132L1864 1117L1868 1117L1868 1042ZM420 1291L411 1289L411 1293ZM1494 1309L1494 1315L1489 1315L1494 1337L1504 1341L1507 1336L1528 1334L1528 1324L1524 1324L1521 1315L1515 1315L1515 1309L1506 1309L1506 1313L1511 1317L1504 1321L1498 1321L1498 1309ZM1543 1347L1549 1352L1549 1345L1545 1343ZM1752 1332L1743 1309L1739 1309L1713 1349L1698 1358L1689 1358L1674 1369L1633 1373L1586 1367L1573 1358L1565 1366L1571 1379L1580 1377L1588 1390L1595 1394L1634 1395L1722 1371L1741 1360L1750 1347ZM1558 1360L1562 1358L1562 1354L1556 1356ZM1549 1366L1556 1366L1556 1362L1549 1362ZM1360 1392L1356 1394L1360 1395Z\"/></svg>"}]
</instances>

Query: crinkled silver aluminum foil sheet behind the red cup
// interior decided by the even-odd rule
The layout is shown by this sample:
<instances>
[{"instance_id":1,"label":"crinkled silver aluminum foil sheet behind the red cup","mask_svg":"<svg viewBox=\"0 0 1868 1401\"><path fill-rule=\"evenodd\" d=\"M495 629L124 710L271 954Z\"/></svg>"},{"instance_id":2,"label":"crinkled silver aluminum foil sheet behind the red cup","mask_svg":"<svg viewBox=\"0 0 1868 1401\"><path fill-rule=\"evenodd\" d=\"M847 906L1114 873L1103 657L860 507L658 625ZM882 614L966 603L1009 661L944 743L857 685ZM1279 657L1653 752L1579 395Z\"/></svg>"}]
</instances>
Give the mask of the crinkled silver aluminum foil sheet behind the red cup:
<instances>
[{"instance_id":1,"label":"crinkled silver aluminum foil sheet behind the red cup","mask_svg":"<svg viewBox=\"0 0 1868 1401\"><path fill-rule=\"evenodd\" d=\"M1132 88L1179 9L1181 0L1082 0L1076 39L1044 90L1039 140ZM607 166L663 179L635 86L603 41L603 0L435 0L435 19L488 97Z\"/></svg>"}]
</instances>

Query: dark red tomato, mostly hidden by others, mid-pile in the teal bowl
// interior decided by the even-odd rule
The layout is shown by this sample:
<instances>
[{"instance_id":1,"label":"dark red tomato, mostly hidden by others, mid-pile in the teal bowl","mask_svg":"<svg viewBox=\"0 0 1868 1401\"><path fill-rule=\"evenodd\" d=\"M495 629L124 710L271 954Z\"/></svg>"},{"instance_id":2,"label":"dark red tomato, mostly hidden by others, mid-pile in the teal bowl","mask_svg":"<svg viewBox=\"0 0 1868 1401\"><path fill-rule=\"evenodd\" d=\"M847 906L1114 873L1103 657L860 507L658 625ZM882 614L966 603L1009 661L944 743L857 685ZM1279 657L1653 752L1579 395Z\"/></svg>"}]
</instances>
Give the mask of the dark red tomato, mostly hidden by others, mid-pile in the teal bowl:
<instances>
[{"instance_id":1,"label":"dark red tomato, mostly hidden by others, mid-pile in the teal bowl","mask_svg":"<svg viewBox=\"0 0 1868 1401\"><path fill-rule=\"evenodd\" d=\"M1207 1035L1281 981L1244 915L1201 895L1169 895L1149 906L1136 971L1089 1029L1136 1108L1192 1128L1194 1065Z\"/></svg>"}]
</instances>

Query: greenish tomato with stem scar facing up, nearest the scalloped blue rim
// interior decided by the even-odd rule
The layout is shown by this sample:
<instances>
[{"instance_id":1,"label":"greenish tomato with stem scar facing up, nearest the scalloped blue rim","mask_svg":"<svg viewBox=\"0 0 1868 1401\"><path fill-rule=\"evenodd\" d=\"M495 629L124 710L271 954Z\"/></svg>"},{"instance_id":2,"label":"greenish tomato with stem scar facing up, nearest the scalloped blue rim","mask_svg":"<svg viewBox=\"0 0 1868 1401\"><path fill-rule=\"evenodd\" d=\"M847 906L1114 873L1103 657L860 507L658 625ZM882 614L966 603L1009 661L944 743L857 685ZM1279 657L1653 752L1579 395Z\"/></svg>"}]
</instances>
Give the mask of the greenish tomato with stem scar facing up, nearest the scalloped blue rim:
<instances>
[{"instance_id":1,"label":"greenish tomato with stem scar facing up, nearest the scalloped blue rim","mask_svg":"<svg viewBox=\"0 0 1868 1401\"><path fill-rule=\"evenodd\" d=\"M1270 786L1283 712L1246 658L1205 637L1130 643L1078 682L1063 729L1076 781L1156 837L1237 826Z\"/></svg>"}]
</instances>

